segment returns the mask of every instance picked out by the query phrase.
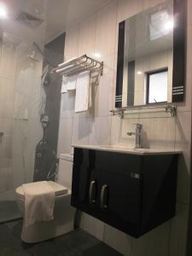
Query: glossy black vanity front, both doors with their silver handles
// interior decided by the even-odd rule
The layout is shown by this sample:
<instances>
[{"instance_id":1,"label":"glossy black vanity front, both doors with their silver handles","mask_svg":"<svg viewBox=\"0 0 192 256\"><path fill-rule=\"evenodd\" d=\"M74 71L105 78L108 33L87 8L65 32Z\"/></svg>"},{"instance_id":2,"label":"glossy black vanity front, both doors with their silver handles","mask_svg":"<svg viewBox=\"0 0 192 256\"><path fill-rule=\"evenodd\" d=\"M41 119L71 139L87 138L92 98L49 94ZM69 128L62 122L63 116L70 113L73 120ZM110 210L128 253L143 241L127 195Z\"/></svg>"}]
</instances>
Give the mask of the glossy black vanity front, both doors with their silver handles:
<instances>
[{"instance_id":1,"label":"glossy black vanity front, both doors with their silver handles","mask_svg":"<svg viewBox=\"0 0 192 256\"><path fill-rule=\"evenodd\" d=\"M142 161L137 155L75 148L72 205L137 237Z\"/></svg>"}]
</instances>

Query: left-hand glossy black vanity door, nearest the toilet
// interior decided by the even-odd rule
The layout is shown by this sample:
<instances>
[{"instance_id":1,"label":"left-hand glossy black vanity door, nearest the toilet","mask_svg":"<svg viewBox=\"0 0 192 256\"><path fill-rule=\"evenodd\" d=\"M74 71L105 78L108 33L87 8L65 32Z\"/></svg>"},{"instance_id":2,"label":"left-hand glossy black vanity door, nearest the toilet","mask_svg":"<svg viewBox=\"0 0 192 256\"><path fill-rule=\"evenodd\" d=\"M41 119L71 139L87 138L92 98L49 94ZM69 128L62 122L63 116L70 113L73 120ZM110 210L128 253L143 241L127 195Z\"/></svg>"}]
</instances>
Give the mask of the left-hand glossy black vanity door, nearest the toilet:
<instances>
[{"instance_id":1,"label":"left-hand glossy black vanity door, nearest the toilet","mask_svg":"<svg viewBox=\"0 0 192 256\"><path fill-rule=\"evenodd\" d=\"M74 149L72 205L98 217L98 171L94 167L95 151Z\"/></svg>"}]
</instances>

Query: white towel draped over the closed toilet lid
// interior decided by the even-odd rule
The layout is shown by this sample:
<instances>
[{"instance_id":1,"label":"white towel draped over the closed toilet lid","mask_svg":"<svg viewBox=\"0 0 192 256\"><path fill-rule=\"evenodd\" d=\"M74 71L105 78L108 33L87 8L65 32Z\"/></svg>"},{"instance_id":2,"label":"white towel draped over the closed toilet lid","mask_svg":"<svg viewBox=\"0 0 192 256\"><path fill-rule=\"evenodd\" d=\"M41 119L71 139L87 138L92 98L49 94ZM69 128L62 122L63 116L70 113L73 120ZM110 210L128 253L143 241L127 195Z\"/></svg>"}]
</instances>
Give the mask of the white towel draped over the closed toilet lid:
<instances>
[{"instance_id":1,"label":"white towel draped over the closed toilet lid","mask_svg":"<svg viewBox=\"0 0 192 256\"><path fill-rule=\"evenodd\" d=\"M55 191L48 182L22 185L25 195L26 226L54 219Z\"/></svg>"}]
</instances>

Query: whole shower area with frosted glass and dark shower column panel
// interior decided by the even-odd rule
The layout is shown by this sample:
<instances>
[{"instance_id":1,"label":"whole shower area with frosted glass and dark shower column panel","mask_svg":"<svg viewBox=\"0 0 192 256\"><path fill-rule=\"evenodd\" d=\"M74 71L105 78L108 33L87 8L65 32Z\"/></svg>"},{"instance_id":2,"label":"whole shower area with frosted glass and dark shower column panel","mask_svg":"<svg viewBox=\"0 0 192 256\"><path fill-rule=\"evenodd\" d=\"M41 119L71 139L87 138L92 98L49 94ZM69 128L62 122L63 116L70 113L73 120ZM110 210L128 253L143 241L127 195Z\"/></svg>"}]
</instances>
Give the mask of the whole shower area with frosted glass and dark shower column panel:
<instances>
[{"instance_id":1,"label":"whole shower area with frosted glass and dark shower column panel","mask_svg":"<svg viewBox=\"0 0 192 256\"><path fill-rule=\"evenodd\" d=\"M65 40L44 41L46 1L10 3L0 20L0 223L20 218L18 186L55 180L61 79L51 70Z\"/></svg>"}]
</instances>

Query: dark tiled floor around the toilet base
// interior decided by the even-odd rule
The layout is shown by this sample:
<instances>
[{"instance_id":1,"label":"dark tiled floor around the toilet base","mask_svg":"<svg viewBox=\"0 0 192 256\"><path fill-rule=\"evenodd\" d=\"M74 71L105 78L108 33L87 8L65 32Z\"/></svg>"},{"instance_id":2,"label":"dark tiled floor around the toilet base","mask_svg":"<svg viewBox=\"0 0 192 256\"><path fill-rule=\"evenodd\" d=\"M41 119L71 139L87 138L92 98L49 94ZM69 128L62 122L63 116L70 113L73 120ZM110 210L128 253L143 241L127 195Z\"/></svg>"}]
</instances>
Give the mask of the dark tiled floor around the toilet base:
<instances>
[{"instance_id":1,"label":"dark tiled floor around the toilet base","mask_svg":"<svg viewBox=\"0 0 192 256\"><path fill-rule=\"evenodd\" d=\"M20 241L21 224L21 220L0 224L0 256L122 255L79 229L49 241L26 244Z\"/></svg>"}]
</instances>

